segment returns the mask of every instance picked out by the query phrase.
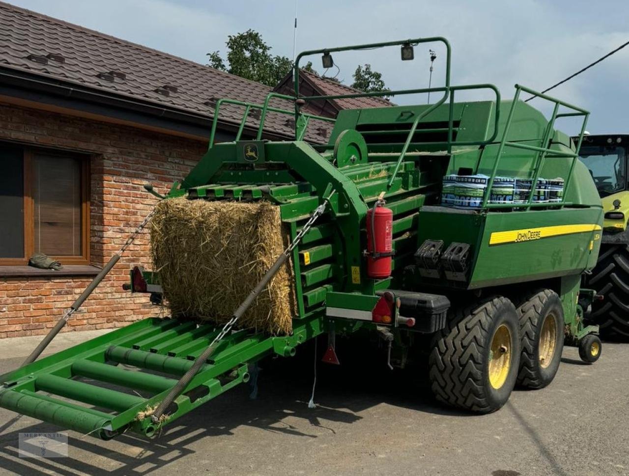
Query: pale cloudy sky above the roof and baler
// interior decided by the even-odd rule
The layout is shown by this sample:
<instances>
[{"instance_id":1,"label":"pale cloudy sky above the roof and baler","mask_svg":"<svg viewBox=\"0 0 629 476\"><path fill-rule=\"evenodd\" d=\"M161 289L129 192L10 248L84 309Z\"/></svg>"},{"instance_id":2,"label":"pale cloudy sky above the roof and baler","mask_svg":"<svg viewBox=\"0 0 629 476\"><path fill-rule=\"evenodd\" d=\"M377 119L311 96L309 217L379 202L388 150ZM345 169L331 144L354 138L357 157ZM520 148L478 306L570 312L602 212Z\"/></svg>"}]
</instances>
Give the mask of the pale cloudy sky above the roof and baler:
<instances>
[{"instance_id":1,"label":"pale cloudy sky above the roof and baler","mask_svg":"<svg viewBox=\"0 0 629 476\"><path fill-rule=\"evenodd\" d=\"M445 36L452 43L452 83L491 82L503 97L518 82L542 90L629 40L626 0L298 0L297 50ZM294 0L10 0L10 3L147 45L199 63L225 53L227 35L259 31L278 55L292 57ZM390 89L428 85L428 48L437 50L433 86L443 82L438 45L337 53L338 79L351 84L357 64L369 62ZM321 72L320 59L312 58ZM337 74L337 70L328 75ZM552 93L591 111L591 133L629 132L629 47ZM457 94L458 96L458 94ZM462 99L484 99L479 94ZM396 97L394 102L425 102ZM532 104L542 107L538 99ZM543 108L546 110L546 108ZM557 124L568 133L574 123Z\"/></svg>"}]
</instances>

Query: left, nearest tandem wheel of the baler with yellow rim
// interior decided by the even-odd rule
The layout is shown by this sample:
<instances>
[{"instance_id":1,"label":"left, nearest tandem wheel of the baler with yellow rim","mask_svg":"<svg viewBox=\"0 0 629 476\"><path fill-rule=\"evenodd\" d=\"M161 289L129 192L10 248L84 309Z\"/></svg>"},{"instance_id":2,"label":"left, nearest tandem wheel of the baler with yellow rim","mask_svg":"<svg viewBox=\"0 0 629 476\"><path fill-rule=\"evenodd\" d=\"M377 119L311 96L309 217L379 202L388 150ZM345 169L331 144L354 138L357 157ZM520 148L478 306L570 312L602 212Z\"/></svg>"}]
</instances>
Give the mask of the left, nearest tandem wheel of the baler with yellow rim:
<instances>
[{"instance_id":1,"label":"left, nearest tandem wheel of the baler with yellow rim","mask_svg":"<svg viewBox=\"0 0 629 476\"><path fill-rule=\"evenodd\" d=\"M517 311L506 297L459 309L431 343L429 375L435 397L481 413L502 407L518 375L519 330Z\"/></svg>"}]
</instances>

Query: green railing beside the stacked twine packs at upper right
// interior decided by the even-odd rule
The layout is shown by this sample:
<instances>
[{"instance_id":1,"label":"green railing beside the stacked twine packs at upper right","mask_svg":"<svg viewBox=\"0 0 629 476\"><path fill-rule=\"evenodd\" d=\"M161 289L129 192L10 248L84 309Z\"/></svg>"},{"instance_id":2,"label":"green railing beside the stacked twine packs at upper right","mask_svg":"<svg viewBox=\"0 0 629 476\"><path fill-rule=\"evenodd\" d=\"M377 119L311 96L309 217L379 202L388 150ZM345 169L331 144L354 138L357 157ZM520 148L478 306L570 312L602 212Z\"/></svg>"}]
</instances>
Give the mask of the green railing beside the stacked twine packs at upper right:
<instances>
[{"instance_id":1,"label":"green railing beside the stacked twine packs at upper right","mask_svg":"<svg viewBox=\"0 0 629 476\"><path fill-rule=\"evenodd\" d=\"M506 123L504 125L503 136L500 141L500 145L498 146L498 152L496 154L496 160L494 162L494 167L491 170L491 175L489 175L489 179L487 180L487 188L484 192L482 198L481 208L493 209L493 208L540 208L540 207L548 207L548 206L566 206L571 203L565 201L565 197L567 196L568 185L570 184L570 180L572 178L572 173L574 172L574 166L577 163L577 158L579 157L579 150L581 149L581 143L583 141L583 134L586 130L587 118L589 117L589 111L585 109L577 108L577 106L573 106L568 102L560 101L560 99L556 99L555 97L547 96L546 94L542 94L541 92L533 91L533 89L529 89L528 87L521 86L520 84L515 85L515 96L513 97L513 102L511 103L511 108L509 109L509 115L507 116ZM546 130L544 131L544 135L542 138L543 147L537 147L534 145L528 145L519 142L511 142L506 140L509 128L511 127L511 121L513 119L513 112L515 111L516 104L518 99L520 99L520 93L528 92L529 94L533 94L534 97L540 97L541 99L545 99L547 101L553 102L555 104L553 108L552 115L550 116L550 120L548 121L548 125ZM564 108L571 109L573 112L562 113L559 114L559 107L564 106ZM583 116L583 122L581 125L581 132L579 133L579 141L577 142L576 151L573 152L564 152L562 150L551 149L549 147L550 140L552 139L552 135L555 130L555 120L559 118L567 118L567 117L578 117ZM494 184L494 179L496 179L496 173L498 172L498 164L500 162L500 157L503 153L505 147L514 147L520 148L524 150L531 150L537 152L537 157L535 157L535 166L533 167L533 179L531 183L531 189L528 194L528 199L526 203L523 204L515 204L515 203L488 203L489 197L491 196L491 188ZM569 157L572 158L570 169L568 171L568 175L564 180L564 193L562 194L562 198L559 202L537 202L533 203L533 197L535 196L535 189L537 187L537 182L540 177L540 173L542 172L543 165L546 160L546 156L550 154L552 157Z\"/></svg>"}]
</instances>

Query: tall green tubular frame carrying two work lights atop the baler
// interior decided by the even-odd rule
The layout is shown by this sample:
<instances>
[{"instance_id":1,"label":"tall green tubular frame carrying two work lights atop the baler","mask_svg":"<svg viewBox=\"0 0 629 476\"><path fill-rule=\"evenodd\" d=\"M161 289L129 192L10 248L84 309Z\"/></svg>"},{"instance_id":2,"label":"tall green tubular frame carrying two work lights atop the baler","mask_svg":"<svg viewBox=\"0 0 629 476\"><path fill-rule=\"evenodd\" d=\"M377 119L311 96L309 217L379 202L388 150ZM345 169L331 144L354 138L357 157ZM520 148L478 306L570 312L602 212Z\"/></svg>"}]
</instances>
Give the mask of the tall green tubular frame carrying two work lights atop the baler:
<instances>
[{"instance_id":1,"label":"tall green tubular frame carrying two work lights atop the baler","mask_svg":"<svg viewBox=\"0 0 629 476\"><path fill-rule=\"evenodd\" d=\"M443 87L399 89L397 91L360 92L360 93L355 93L355 94L337 94L334 96L303 96L303 97L299 96L299 60L301 60L302 57L306 57L309 55L316 55L318 53L342 52L342 51L349 51L349 50L368 50L372 48L384 48L384 47L391 47L391 46L397 46L397 45L404 45L407 43L411 45L418 45L419 43L435 43L435 42L443 43L446 50L445 86ZM491 135L491 137L487 140L457 142L456 144L457 145L487 145L493 142L496 136L498 135L498 123L499 123L498 105L500 103L500 92L498 91L498 88L494 86L493 84L469 84L465 86L450 86L450 58L451 56L452 56L452 50L450 48L450 43L448 42L448 40L443 38L443 36L431 36L430 38L415 38L415 39L409 39L409 40L398 40L395 42L370 43L369 45L353 45L349 47L322 48L320 50L308 50L308 51L299 53L299 55L295 59L294 73L293 73L295 97L300 97L300 99L303 99L304 101L315 101L317 99L347 99L350 97L379 97L379 96L396 96L396 95L404 95L404 94L423 94L423 93L428 93L428 92L443 92L443 96L437 102L431 104L430 107L426 109L425 111L422 111L421 114L418 114L418 116L413 121L411 130L409 131L406 141L404 142L402 150L399 154L398 162L396 163L395 168L393 169L391 173L391 177L389 178L389 181L387 182L387 189L390 189L391 186L394 184L396 175L398 174L398 171L399 171L399 167L404 161L406 152L408 152L408 148L410 147L411 142L413 141L413 136L415 136L415 133L417 131L417 126L419 125L421 119L425 118L426 116L428 116L428 114L430 114L432 111L434 111L439 106L441 106L445 101L447 101L448 97L450 98L449 109L448 109L449 118L448 118L448 128L447 128L448 140L447 142L431 142L430 145L445 145L448 148L448 153L452 152L452 145L454 143L453 137L452 137L453 136L452 135L452 131L453 131L452 117L453 117L453 112L454 112L454 91L464 91L468 89L491 89L491 91L493 91L494 94L496 95L496 118L494 121L494 132ZM299 114L299 106L298 104L296 104L295 105L296 118L298 117L298 114ZM297 125L297 121L295 121L295 124ZM427 132L427 131L422 131L422 132ZM296 130L295 133L297 134L298 131Z\"/></svg>"}]
</instances>

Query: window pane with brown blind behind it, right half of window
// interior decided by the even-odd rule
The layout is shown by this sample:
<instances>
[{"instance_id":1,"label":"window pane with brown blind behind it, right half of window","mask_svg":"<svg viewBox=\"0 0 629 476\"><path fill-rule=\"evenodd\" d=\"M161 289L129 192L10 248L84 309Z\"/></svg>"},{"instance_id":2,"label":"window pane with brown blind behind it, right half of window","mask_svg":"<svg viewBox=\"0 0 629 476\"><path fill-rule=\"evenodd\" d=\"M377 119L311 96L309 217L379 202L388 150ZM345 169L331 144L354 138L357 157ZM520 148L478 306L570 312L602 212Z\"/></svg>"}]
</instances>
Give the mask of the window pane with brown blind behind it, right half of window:
<instances>
[{"instance_id":1,"label":"window pane with brown blind behind it, right half of window","mask_svg":"<svg viewBox=\"0 0 629 476\"><path fill-rule=\"evenodd\" d=\"M81 160L33 157L35 251L49 256L81 255Z\"/></svg>"}]
</instances>

